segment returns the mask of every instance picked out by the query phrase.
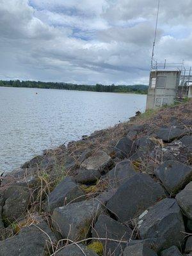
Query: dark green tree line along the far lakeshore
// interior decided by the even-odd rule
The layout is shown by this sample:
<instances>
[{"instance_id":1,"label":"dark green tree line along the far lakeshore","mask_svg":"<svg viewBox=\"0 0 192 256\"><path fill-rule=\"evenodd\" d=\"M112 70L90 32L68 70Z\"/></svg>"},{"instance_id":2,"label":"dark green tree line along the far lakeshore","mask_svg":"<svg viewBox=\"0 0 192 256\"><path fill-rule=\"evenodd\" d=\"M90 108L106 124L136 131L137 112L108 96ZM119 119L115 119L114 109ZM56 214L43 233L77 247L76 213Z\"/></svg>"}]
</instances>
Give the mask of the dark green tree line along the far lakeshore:
<instances>
[{"instance_id":1,"label":"dark green tree line along the far lakeshore","mask_svg":"<svg viewBox=\"0 0 192 256\"><path fill-rule=\"evenodd\" d=\"M41 82L41 81L20 81L0 80L0 86L6 87L25 87L25 88L42 88L42 89L60 89L60 90L78 90L78 91L90 91L90 92L116 92L116 93L141 93L147 94L148 86L145 84L134 85L87 85L87 84L71 84L71 83L53 83L53 82Z\"/></svg>"}]
</instances>

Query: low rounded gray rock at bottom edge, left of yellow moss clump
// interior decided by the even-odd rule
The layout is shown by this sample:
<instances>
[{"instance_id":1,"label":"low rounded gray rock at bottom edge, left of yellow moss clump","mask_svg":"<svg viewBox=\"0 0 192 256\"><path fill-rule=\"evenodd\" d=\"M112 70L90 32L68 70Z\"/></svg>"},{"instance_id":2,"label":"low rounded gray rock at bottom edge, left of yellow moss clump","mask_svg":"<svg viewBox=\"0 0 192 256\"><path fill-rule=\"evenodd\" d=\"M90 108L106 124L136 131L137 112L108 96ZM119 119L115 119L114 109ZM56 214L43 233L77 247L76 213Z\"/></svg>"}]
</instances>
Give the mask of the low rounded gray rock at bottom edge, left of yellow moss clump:
<instances>
[{"instance_id":1,"label":"low rounded gray rock at bottom edge, left of yellow moss clump","mask_svg":"<svg viewBox=\"0 0 192 256\"><path fill-rule=\"evenodd\" d=\"M80 248L79 248L80 247ZM83 250L83 252L82 252ZM55 256L98 256L97 253L93 252L93 250L90 250L86 248L83 244L71 244L68 246L65 246L58 252L54 254Z\"/></svg>"}]
</instances>

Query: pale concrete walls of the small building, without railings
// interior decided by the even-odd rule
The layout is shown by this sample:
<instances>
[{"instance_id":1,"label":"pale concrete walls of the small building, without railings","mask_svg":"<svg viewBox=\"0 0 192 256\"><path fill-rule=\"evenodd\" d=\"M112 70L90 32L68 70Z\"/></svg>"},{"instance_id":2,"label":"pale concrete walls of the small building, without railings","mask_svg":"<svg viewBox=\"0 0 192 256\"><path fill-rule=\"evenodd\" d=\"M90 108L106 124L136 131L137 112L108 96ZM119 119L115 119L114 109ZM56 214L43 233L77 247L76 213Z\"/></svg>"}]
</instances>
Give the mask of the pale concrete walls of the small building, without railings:
<instances>
[{"instance_id":1,"label":"pale concrete walls of the small building, without railings","mask_svg":"<svg viewBox=\"0 0 192 256\"><path fill-rule=\"evenodd\" d=\"M164 77L164 88L157 88L158 77ZM153 87L152 78L156 78L156 85ZM147 95L147 109L156 109L165 104L173 104L179 85L180 72L158 70L150 72L150 81Z\"/></svg>"}]
</instances>

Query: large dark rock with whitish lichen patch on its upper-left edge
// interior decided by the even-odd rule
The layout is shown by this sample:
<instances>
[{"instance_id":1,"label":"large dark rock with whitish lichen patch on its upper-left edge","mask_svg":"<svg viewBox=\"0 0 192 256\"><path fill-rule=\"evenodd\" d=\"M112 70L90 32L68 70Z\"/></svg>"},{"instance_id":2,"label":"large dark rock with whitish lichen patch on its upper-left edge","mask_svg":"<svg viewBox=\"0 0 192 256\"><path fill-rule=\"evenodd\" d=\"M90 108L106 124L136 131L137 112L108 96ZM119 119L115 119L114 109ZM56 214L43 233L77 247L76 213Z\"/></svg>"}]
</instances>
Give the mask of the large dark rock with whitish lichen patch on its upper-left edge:
<instances>
[{"instance_id":1,"label":"large dark rock with whitish lichen patch on its upper-left edge","mask_svg":"<svg viewBox=\"0 0 192 256\"><path fill-rule=\"evenodd\" d=\"M175 199L166 198L143 212L139 217L138 230L141 239L162 238L163 249L183 243L184 221Z\"/></svg>"}]
</instances>

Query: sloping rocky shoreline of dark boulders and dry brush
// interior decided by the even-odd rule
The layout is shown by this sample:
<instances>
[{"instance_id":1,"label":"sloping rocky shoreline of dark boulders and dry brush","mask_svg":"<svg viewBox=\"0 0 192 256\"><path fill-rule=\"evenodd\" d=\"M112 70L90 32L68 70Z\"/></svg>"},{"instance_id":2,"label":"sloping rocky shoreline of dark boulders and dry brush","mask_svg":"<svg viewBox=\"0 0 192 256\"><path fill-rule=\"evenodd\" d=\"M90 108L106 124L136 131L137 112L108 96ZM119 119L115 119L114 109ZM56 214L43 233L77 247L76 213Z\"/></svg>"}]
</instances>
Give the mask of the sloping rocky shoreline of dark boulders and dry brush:
<instances>
[{"instance_id":1,"label":"sloping rocky shoreline of dark boulders and dry brush","mask_svg":"<svg viewBox=\"0 0 192 256\"><path fill-rule=\"evenodd\" d=\"M192 255L191 109L148 111L1 177L0 256Z\"/></svg>"}]
</instances>

